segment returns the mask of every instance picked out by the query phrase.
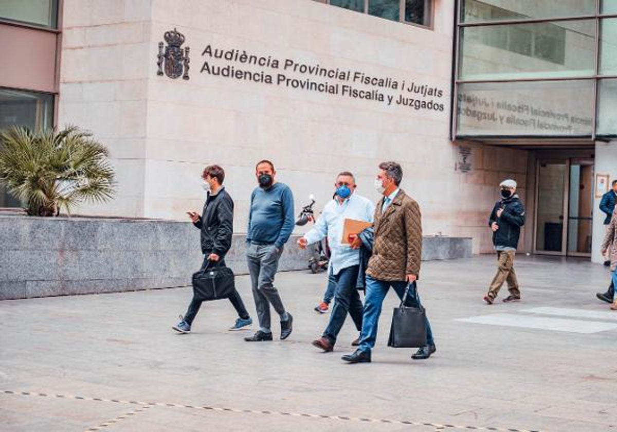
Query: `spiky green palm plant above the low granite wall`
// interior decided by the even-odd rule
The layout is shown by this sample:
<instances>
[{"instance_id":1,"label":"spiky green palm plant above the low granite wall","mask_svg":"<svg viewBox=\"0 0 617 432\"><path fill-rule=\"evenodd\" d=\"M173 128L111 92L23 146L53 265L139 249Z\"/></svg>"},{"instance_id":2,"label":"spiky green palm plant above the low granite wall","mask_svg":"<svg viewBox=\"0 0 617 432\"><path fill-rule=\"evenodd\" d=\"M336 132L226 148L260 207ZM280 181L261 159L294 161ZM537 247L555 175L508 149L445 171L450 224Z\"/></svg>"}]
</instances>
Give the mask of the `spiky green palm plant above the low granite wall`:
<instances>
[{"instance_id":1,"label":"spiky green palm plant above the low granite wall","mask_svg":"<svg viewBox=\"0 0 617 432\"><path fill-rule=\"evenodd\" d=\"M0 131L0 183L27 205L29 215L67 214L82 201L114 195L114 170L107 148L75 126Z\"/></svg>"}]
</instances>

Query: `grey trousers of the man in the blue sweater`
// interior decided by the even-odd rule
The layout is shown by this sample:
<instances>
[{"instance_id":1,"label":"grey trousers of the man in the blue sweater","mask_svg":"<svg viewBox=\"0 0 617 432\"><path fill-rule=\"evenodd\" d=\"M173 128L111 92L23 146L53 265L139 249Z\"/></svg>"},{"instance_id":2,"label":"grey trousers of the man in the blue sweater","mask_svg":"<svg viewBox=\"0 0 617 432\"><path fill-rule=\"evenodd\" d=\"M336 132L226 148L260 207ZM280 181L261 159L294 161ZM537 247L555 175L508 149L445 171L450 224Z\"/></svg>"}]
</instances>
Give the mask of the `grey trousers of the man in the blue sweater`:
<instances>
[{"instance_id":1,"label":"grey trousers of the man in the blue sweater","mask_svg":"<svg viewBox=\"0 0 617 432\"><path fill-rule=\"evenodd\" d=\"M259 328L266 333L270 332L270 304L277 314L285 313L283 301L273 285L282 253L283 247L278 250L273 244L249 244L246 249Z\"/></svg>"}]
</instances>

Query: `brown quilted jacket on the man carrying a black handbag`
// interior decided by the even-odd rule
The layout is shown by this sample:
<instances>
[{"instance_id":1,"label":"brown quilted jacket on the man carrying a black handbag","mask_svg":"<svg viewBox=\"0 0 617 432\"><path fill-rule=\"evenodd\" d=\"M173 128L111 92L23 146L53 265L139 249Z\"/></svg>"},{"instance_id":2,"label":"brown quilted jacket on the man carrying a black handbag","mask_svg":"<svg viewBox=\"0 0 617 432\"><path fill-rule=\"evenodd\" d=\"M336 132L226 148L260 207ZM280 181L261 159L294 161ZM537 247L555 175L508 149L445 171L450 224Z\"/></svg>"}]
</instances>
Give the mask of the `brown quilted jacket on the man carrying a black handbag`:
<instances>
[{"instance_id":1,"label":"brown quilted jacket on the man carrying a black handbag","mask_svg":"<svg viewBox=\"0 0 617 432\"><path fill-rule=\"evenodd\" d=\"M384 214L375 208L375 244L366 274L384 281L404 281L407 275L420 276L422 257L422 217L418 203L399 190Z\"/></svg>"}]
</instances>

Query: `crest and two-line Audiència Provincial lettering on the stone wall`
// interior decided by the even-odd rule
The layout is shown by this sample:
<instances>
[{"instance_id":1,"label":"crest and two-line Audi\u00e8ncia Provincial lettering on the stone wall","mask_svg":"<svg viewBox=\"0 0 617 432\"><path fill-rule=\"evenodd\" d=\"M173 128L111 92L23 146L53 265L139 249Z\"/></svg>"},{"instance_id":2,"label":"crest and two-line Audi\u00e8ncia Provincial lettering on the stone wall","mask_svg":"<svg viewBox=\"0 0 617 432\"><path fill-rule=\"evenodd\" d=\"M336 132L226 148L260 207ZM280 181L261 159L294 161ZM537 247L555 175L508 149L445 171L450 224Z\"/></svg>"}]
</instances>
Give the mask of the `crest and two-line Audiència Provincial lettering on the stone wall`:
<instances>
[{"instance_id":1,"label":"crest and two-line Audi\u00e8ncia Provincial lettering on the stone wall","mask_svg":"<svg viewBox=\"0 0 617 432\"><path fill-rule=\"evenodd\" d=\"M184 36L176 29L165 33L159 43L157 75L188 80L189 48L180 48ZM205 45L199 72L213 79L238 83L257 83L296 91L321 93L325 96L363 99L385 106L399 106L414 111L447 111L444 89L420 82L413 77L391 77L344 69L336 65L303 62L274 54L249 52L241 48Z\"/></svg>"}]
</instances>

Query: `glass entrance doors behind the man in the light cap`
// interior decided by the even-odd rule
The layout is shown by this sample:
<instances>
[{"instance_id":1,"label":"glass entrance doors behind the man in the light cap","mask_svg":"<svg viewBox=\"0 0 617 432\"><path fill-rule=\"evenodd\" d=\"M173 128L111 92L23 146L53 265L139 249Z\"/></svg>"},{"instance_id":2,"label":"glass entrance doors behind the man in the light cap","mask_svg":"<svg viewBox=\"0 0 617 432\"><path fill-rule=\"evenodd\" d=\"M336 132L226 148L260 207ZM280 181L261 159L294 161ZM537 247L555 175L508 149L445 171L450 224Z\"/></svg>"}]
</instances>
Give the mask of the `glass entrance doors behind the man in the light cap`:
<instances>
[{"instance_id":1,"label":"glass entrance doors behind the man in the light cap","mask_svg":"<svg viewBox=\"0 0 617 432\"><path fill-rule=\"evenodd\" d=\"M594 161L539 160L534 252L591 256Z\"/></svg>"}]
</instances>

